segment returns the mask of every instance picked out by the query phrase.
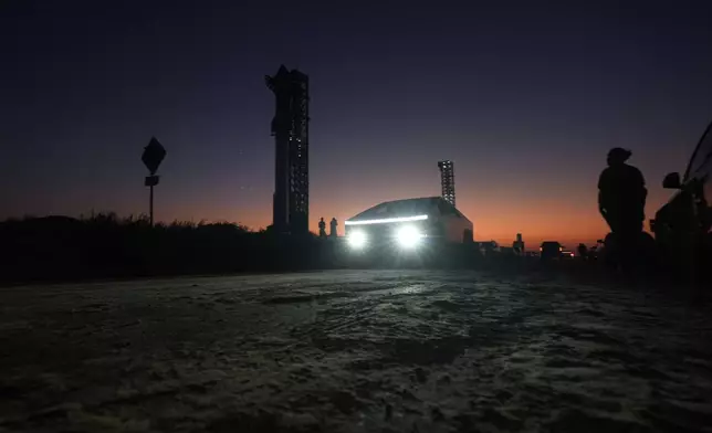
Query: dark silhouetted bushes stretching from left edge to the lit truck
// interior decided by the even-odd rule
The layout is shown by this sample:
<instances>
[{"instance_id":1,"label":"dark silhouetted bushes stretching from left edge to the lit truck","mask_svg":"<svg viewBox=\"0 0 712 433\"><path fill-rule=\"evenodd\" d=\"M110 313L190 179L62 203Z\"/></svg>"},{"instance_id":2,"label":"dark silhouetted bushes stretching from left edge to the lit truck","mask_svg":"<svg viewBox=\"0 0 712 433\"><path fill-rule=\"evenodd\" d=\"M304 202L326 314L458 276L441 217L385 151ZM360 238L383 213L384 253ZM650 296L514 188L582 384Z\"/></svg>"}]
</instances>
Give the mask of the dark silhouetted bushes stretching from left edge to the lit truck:
<instances>
[{"instance_id":1,"label":"dark silhouetted bushes stretching from left edge to the lit truck","mask_svg":"<svg viewBox=\"0 0 712 433\"><path fill-rule=\"evenodd\" d=\"M0 223L2 281L42 281L312 268L304 239L233 223L174 222L113 213L86 219L25 218Z\"/></svg>"}]
</instances>

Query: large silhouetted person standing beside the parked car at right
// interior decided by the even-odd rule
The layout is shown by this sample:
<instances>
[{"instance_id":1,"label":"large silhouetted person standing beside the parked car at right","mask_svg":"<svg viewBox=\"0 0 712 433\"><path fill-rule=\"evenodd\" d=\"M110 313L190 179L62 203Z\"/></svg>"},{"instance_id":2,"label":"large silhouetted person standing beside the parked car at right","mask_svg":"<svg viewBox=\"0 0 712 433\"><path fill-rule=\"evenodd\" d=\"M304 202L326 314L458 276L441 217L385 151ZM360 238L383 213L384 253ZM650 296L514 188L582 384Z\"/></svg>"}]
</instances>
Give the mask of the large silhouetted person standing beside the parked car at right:
<instances>
[{"instance_id":1,"label":"large silhouetted person standing beside the parked car at right","mask_svg":"<svg viewBox=\"0 0 712 433\"><path fill-rule=\"evenodd\" d=\"M598 209L618 245L632 245L642 233L648 190L636 167L626 163L630 150L616 147L608 152L608 167L598 179ZM608 245L607 245L608 246ZM628 250L624 247L622 252ZM632 251L631 251L632 252Z\"/></svg>"}]
</instances>

